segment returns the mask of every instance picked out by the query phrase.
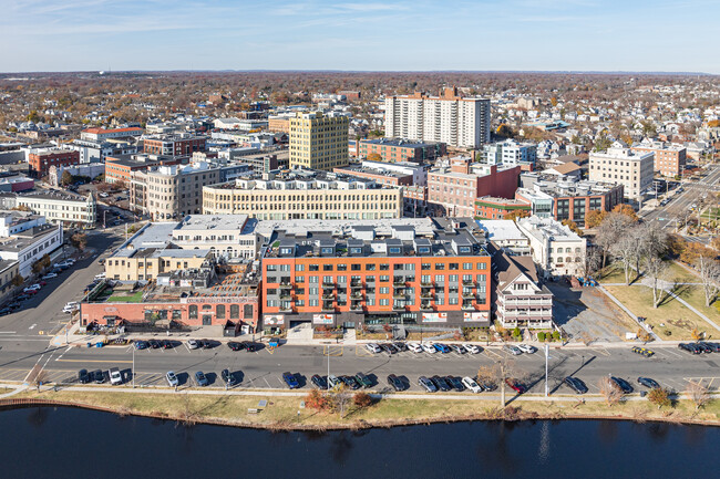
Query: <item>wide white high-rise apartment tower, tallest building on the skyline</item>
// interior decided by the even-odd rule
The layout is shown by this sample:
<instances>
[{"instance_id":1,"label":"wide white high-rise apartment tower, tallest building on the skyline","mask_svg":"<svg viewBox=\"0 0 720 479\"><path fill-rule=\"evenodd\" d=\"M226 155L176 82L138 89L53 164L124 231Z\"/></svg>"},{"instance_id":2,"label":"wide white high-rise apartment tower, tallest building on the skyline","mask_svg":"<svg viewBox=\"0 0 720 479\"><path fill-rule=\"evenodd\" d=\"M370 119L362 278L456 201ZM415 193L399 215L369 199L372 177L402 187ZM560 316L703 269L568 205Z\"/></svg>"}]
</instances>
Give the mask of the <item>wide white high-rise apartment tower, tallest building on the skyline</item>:
<instances>
[{"instance_id":1,"label":"wide white high-rise apartment tower, tallest building on the skyline","mask_svg":"<svg viewBox=\"0 0 720 479\"><path fill-rule=\"evenodd\" d=\"M463 98L456 88L442 96L415 93L385 98L385 136L480 148L490 142L490 100Z\"/></svg>"}]
</instances>

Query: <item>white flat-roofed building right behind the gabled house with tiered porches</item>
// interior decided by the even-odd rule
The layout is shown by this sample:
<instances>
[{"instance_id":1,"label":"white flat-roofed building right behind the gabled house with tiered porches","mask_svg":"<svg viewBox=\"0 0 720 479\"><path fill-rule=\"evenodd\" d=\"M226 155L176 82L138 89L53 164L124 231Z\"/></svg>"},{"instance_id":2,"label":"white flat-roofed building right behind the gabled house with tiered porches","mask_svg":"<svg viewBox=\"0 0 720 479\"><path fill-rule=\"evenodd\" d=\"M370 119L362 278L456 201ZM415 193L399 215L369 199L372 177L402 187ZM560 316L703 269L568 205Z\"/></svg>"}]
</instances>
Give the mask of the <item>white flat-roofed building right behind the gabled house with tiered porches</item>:
<instances>
[{"instance_id":1,"label":"white flat-roofed building right behind the gabled house with tiered porches","mask_svg":"<svg viewBox=\"0 0 720 479\"><path fill-rule=\"evenodd\" d=\"M529 239L533 261L546 277L583 275L587 240L553 218L532 216L517 221Z\"/></svg>"}]
</instances>

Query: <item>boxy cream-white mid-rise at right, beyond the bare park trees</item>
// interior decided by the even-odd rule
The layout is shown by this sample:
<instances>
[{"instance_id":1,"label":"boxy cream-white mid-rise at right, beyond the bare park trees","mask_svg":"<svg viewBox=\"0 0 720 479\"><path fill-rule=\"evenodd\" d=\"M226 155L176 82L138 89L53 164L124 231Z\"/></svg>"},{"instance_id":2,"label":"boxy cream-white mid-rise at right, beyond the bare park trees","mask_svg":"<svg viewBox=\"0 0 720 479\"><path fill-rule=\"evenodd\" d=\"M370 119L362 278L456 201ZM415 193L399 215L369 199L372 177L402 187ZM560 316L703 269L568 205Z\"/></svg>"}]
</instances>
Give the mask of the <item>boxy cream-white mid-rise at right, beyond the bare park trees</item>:
<instances>
[{"instance_id":1,"label":"boxy cream-white mid-rise at right, beyond the bare park trees","mask_svg":"<svg viewBox=\"0 0 720 479\"><path fill-rule=\"evenodd\" d=\"M626 198L641 199L644 191L652 185L654 166L652 153L634 152L615 142L605 152L590 153L589 179L623 185Z\"/></svg>"}]
</instances>

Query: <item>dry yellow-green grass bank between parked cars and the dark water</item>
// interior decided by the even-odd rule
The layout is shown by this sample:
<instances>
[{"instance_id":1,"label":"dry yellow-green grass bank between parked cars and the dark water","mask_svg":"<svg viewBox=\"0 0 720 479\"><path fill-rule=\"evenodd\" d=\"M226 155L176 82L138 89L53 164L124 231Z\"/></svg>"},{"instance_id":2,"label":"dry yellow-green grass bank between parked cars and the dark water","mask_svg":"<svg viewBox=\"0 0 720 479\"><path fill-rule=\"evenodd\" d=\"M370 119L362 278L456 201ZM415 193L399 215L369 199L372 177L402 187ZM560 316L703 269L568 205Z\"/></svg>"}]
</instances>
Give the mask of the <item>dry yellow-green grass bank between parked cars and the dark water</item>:
<instances>
[{"instance_id":1,"label":"dry yellow-green grass bank between parked cars and the dark water","mask_svg":"<svg viewBox=\"0 0 720 479\"><path fill-rule=\"evenodd\" d=\"M503 410L496 400L383 399L368 407L357 407L350 403L344 416L340 417L338 413L320 413L301 408L300 403L304 397L268 396L267 406L259 413L250 413L249 409L258 407L261 396L133 394L65 389L25 392L13 398L72 403L78 406L107 408L121 415L162 417L186 424L215 423L268 429L322 430L454 420L606 417L720 426L720 400L713 400L700 410L696 410L695 405L689 400L678 400L673 407L661 409L646 400L625 402L614 406L589 400L586 403L515 400Z\"/></svg>"}]
</instances>

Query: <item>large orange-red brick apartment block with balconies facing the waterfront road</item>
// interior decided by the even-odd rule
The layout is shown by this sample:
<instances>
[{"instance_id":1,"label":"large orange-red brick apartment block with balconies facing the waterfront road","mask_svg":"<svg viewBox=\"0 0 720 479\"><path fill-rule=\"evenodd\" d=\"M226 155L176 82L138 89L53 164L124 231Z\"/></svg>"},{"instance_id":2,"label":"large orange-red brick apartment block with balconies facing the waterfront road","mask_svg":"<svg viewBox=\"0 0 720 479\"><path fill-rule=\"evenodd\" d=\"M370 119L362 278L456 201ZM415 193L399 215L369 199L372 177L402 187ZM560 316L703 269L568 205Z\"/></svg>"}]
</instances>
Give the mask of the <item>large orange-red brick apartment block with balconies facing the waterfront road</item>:
<instances>
[{"instance_id":1,"label":"large orange-red brick apartment block with balconies facing the waterfront road","mask_svg":"<svg viewBox=\"0 0 720 479\"><path fill-rule=\"evenodd\" d=\"M261 260L265 327L490 324L491 257L467 230L351 229L317 244L278 238Z\"/></svg>"}]
</instances>

